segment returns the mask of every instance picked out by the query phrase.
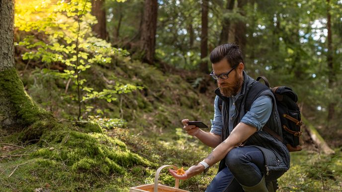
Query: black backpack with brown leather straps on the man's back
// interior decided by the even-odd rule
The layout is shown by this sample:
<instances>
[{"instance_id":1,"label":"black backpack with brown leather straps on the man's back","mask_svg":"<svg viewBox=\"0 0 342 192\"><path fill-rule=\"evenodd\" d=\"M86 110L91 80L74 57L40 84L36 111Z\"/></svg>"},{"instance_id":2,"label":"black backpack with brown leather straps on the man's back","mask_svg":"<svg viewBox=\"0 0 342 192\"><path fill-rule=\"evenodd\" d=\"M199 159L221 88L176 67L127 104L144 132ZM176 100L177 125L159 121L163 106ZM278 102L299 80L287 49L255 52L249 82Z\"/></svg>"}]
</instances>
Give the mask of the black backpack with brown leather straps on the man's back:
<instances>
[{"instance_id":1,"label":"black backpack with brown leather straps on the man's back","mask_svg":"<svg viewBox=\"0 0 342 192\"><path fill-rule=\"evenodd\" d=\"M265 85L258 82L260 79L265 81ZM302 135L300 127L303 125L303 123L301 121L300 109L297 105L297 94L292 91L291 88L286 86L270 88L268 80L263 76L257 77L256 81L257 82L254 83L251 88L254 91L252 93L248 93L247 95L245 111L249 111L251 109L253 102L262 91L267 88L270 89L276 100L277 111L282 127L282 137L266 126L264 126L262 130L265 130L284 143L290 152L302 150L302 147L299 145L299 137ZM218 106L220 110L222 110L222 99L220 98L218 102Z\"/></svg>"}]
</instances>

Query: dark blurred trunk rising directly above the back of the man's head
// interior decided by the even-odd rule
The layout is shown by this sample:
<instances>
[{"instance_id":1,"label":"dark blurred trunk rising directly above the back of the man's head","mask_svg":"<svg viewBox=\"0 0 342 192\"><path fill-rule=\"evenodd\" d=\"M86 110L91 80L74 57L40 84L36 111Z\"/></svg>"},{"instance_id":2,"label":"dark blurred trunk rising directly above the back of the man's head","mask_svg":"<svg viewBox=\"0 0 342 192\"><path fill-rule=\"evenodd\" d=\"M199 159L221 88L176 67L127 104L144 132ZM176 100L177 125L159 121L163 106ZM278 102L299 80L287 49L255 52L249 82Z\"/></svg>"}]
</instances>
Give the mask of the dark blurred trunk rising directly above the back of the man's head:
<instances>
[{"instance_id":1,"label":"dark blurred trunk rising directly above the back of the man's head","mask_svg":"<svg viewBox=\"0 0 342 192\"><path fill-rule=\"evenodd\" d=\"M241 16L245 16L244 6L247 4L247 0L238 0L238 8ZM246 47L246 23L239 21L235 25L235 41L239 44L240 50L242 51L243 58L245 58L245 47Z\"/></svg>"}]
</instances>

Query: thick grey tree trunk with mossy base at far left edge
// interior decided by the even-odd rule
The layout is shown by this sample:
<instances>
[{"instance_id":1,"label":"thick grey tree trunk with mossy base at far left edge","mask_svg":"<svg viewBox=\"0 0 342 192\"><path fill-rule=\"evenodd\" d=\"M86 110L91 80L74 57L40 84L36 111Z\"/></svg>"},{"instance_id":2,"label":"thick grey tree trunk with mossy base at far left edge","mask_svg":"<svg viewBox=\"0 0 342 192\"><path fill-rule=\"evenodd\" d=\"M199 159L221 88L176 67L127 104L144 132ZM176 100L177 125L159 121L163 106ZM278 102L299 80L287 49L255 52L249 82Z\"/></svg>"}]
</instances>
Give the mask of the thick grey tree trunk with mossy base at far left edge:
<instances>
[{"instance_id":1,"label":"thick grey tree trunk with mossy base at far left edge","mask_svg":"<svg viewBox=\"0 0 342 192\"><path fill-rule=\"evenodd\" d=\"M0 128L21 130L52 116L34 104L16 73L13 21L14 0L0 0Z\"/></svg>"}]
</instances>

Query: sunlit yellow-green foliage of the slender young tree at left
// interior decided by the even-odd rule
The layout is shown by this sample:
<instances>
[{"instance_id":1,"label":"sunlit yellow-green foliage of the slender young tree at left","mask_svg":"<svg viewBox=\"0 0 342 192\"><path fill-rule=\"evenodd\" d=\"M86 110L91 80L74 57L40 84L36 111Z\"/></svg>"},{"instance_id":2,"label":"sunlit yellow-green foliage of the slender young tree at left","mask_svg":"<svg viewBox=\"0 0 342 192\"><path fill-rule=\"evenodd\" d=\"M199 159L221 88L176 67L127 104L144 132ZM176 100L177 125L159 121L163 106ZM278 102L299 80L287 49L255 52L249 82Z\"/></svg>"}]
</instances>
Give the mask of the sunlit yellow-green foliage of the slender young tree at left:
<instances>
[{"instance_id":1,"label":"sunlit yellow-green foliage of the slender young tree at left","mask_svg":"<svg viewBox=\"0 0 342 192\"><path fill-rule=\"evenodd\" d=\"M115 94L142 88L117 83L98 92L84 86L86 79L81 73L92 64L110 64L113 57L129 54L92 35L91 26L97 21L90 11L89 0L18 0L15 6L15 27L26 32L16 45L30 50L22 55L22 59L40 60L46 64L45 72L72 80L80 106L78 119L81 102L94 98L111 102L116 100ZM62 73L49 70L49 66L56 63L67 67ZM87 93L84 95L82 91Z\"/></svg>"}]
</instances>

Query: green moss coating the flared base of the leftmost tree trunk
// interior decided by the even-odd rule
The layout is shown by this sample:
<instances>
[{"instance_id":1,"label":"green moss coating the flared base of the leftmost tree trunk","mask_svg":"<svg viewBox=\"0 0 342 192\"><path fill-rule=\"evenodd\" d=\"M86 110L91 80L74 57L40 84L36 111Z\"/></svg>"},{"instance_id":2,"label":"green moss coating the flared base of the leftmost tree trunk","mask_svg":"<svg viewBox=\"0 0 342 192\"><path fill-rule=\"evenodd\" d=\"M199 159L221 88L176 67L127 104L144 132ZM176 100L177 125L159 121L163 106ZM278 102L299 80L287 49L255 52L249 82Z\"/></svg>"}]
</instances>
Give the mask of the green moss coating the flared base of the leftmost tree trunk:
<instances>
[{"instance_id":1,"label":"green moss coating the flared base of the leftmost tree trunk","mask_svg":"<svg viewBox=\"0 0 342 192\"><path fill-rule=\"evenodd\" d=\"M25 127L34 122L51 116L44 110L37 107L31 97L27 95L23 84L20 81L15 68L9 68L0 72L0 90L4 94L4 99L9 102L10 117L17 124Z\"/></svg>"}]
</instances>

